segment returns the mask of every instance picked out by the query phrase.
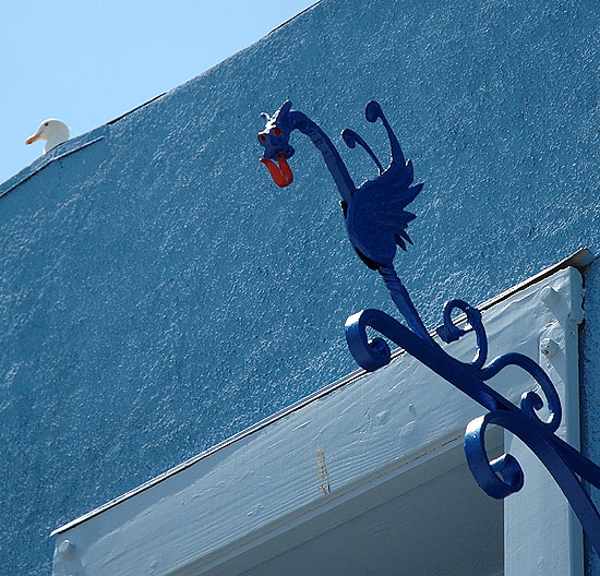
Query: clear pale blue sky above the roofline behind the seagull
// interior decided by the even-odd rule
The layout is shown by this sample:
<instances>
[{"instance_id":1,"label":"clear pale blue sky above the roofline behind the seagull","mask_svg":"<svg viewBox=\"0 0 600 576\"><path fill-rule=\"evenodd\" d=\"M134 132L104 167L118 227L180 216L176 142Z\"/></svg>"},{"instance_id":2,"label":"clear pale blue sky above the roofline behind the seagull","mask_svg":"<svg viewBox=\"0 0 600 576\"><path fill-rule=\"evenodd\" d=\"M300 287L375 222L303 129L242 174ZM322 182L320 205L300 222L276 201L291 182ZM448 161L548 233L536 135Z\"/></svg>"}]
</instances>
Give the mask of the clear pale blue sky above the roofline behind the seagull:
<instances>
[{"instance_id":1,"label":"clear pale blue sky above the roofline behind the seagull","mask_svg":"<svg viewBox=\"0 0 600 576\"><path fill-rule=\"evenodd\" d=\"M0 182L47 118L83 134L250 46L315 0L0 3Z\"/></svg>"}]
</instances>

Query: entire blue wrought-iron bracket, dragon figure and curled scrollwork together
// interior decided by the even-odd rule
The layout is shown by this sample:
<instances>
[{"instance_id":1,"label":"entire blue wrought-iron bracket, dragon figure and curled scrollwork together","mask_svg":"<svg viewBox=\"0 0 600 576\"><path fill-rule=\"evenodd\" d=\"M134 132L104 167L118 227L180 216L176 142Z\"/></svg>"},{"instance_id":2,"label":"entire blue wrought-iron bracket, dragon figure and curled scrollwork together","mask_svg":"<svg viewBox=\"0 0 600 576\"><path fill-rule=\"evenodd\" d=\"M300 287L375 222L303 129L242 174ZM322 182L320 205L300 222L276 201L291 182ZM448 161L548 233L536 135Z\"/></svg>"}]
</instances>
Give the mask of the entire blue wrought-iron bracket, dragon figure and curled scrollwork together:
<instances>
[{"instance_id":1,"label":"entire blue wrought-iron bracket, dragon figure and curled scrollwork together","mask_svg":"<svg viewBox=\"0 0 600 576\"><path fill-rule=\"evenodd\" d=\"M329 137L304 113L291 110L290 101L286 101L273 118L264 115L267 123L259 134L259 142L265 148L261 161L279 187L289 185L293 179L287 163L295 152L289 144L291 132L299 130L312 140L341 194L340 204L350 242L364 264L380 273L408 324L407 327L380 310L358 312L346 321L346 339L350 352L358 364L368 371L377 370L391 361L386 340L381 337L369 339L367 328L370 327L487 408L489 412L470 422L465 433L467 461L479 485L495 499L506 497L523 488L523 469L512 455L505 454L492 461L488 458L485 429L489 424L500 425L518 436L547 467L600 554L600 514L584 487L584 482L589 482L600 488L600 467L556 436L562 408L548 374L532 359L516 352L502 355L485 364L488 338L481 313L463 300L452 300L445 304L443 325L437 328L437 335L442 341L451 343L473 332L477 351L471 362L453 358L431 337L396 274L393 264L396 247L406 250L406 243L412 243L406 230L416 216L405 208L419 194L423 184L410 185L413 178L412 164L405 160L381 106L375 101L369 103L365 116L369 122L382 121L392 147L392 161L383 169L369 145L356 132L345 130L343 137L346 144L351 148L357 144L364 148L379 169L376 178L359 188L355 187ZM454 324L452 314L455 310L467 316L466 327ZM532 391L524 393L517 407L485 383L508 365L525 370L540 386L549 411L545 420L538 416L538 410L544 406L539 394Z\"/></svg>"}]
</instances>

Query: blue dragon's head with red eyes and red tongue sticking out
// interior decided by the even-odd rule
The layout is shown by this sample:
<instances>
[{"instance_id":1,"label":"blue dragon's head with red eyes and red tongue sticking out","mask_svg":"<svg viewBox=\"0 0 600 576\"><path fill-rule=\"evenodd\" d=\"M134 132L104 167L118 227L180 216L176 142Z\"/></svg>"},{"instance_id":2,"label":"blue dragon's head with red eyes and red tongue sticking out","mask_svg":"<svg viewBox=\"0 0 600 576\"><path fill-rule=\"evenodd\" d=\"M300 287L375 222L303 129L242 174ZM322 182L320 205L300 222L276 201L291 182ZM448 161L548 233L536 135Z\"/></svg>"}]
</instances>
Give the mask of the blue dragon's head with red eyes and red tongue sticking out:
<instances>
[{"instance_id":1,"label":"blue dragon's head with red eyes and red tongue sticking out","mask_svg":"<svg viewBox=\"0 0 600 576\"><path fill-rule=\"evenodd\" d=\"M293 180L293 175L287 163L293 156L293 148L289 145L289 136L293 131L289 115L290 108L291 103L286 100L273 118L263 112L266 125L259 133L259 142L265 148L260 161L267 167L273 181L280 188L291 184Z\"/></svg>"}]
</instances>

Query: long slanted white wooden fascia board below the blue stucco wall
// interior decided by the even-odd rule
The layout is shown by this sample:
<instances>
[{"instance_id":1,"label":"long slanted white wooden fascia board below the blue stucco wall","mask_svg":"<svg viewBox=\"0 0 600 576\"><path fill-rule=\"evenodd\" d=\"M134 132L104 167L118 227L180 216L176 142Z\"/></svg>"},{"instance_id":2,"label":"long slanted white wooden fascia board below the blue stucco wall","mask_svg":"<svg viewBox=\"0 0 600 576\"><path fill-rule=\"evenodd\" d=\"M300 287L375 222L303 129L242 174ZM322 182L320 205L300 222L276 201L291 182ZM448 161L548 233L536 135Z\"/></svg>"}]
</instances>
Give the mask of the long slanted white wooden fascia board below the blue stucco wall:
<instances>
[{"instance_id":1,"label":"long slanted white wooden fascia board below the blue stucco wall","mask_svg":"<svg viewBox=\"0 0 600 576\"><path fill-rule=\"evenodd\" d=\"M574 445L577 356L573 362L563 356L571 357L576 347L581 295L580 275L569 267L483 311L490 359L520 352L537 360L541 340L552 335L559 353L550 364L544 358L544 368L559 383L565 412L561 433ZM470 360L475 337L447 349ZM503 370L489 384L515 403L535 385L516 368ZM220 559L231 559L298 526L302 518L325 513L377 478L401 473L428 454L455 445L466 424L484 411L401 353L375 373L316 395L117 505L57 530L53 574L203 574ZM527 467L525 477L527 489ZM565 538L573 539L568 533ZM574 538L576 549L580 535Z\"/></svg>"}]
</instances>

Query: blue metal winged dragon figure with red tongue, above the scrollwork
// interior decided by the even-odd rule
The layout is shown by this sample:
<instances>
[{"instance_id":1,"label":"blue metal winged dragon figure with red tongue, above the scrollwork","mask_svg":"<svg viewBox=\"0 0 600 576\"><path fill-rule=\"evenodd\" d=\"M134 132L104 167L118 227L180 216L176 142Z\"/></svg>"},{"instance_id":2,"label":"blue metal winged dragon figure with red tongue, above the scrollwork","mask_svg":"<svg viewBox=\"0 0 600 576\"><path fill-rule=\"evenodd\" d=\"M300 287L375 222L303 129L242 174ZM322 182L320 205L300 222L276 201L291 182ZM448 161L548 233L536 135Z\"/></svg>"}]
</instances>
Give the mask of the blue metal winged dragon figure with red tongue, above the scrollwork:
<instances>
[{"instance_id":1,"label":"blue metal winged dragon figure with red tongue, above the scrollwork","mask_svg":"<svg viewBox=\"0 0 600 576\"><path fill-rule=\"evenodd\" d=\"M291 110L289 100L275 112L273 118L266 113L263 113L263 117L266 118L267 123L259 134L259 142L265 148L261 161L267 167L273 181L280 188L292 182L293 176L288 160L293 156L295 149L289 144L289 137L295 130L299 130L309 136L321 152L337 184L341 194L340 205L346 220L346 230L358 255L367 266L382 275L392 299L410 327L421 336L428 335L394 269L396 247L406 250L407 242L412 243L407 228L416 216L405 208L417 197L423 184L410 185L413 179L412 163L406 161L398 139L383 115L381 106L370 101L367 105L365 117L369 122L381 119L387 131L392 161L385 170L373 151L356 132L346 129L341 133L349 147L353 148L357 144L362 146L379 169L376 178L367 180L358 188L327 134L303 112Z\"/></svg>"}]
</instances>

